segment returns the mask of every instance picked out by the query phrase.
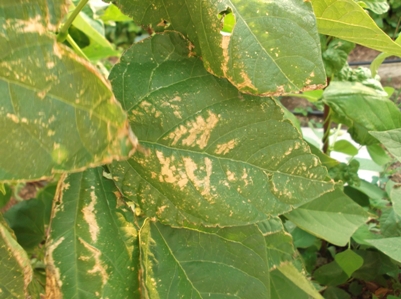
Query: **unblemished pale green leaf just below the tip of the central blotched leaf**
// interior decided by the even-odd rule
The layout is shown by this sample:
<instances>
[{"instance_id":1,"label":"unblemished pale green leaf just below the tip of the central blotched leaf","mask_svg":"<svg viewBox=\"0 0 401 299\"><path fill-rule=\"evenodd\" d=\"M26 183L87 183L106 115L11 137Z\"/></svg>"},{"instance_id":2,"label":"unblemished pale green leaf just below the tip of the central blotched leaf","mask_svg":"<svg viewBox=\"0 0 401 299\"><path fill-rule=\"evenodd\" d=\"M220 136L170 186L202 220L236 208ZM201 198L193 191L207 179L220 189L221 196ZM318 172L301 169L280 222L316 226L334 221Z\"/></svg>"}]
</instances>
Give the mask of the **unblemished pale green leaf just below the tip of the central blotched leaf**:
<instances>
[{"instance_id":1,"label":"unblemished pale green leaf just below the tip of the central blotched leaf","mask_svg":"<svg viewBox=\"0 0 401 299\"><path fill-rule=\"evenodd\" d=\"M368 214L340 189L285 214L303 230L328 242L345 246Z\"/></svg>"}]
</instances>

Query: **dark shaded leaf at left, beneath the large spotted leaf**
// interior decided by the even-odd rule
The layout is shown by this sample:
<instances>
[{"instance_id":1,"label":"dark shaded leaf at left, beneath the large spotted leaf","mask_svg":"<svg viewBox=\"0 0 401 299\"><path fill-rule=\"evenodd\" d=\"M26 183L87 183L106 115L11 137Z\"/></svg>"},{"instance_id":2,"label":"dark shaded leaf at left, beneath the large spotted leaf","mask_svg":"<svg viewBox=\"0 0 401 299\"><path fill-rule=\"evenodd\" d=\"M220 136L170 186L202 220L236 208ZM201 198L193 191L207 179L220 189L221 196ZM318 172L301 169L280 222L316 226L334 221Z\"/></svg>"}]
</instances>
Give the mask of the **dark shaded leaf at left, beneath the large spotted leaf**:
<instances>
[{"instance_id":1,"label":"dark shaded leaf at left, beneath the large spotted leaf","mask_svg":"<svg viewBox=\"0 0 401 299\"><path fill-rule=\"evenodd\" d=\"M18 243L25 249L33 249L45 240L45 225L49 223L55 192L56 186L48 185L36 198L23 200L4 214Z\"/></svg>"}]
</instances>

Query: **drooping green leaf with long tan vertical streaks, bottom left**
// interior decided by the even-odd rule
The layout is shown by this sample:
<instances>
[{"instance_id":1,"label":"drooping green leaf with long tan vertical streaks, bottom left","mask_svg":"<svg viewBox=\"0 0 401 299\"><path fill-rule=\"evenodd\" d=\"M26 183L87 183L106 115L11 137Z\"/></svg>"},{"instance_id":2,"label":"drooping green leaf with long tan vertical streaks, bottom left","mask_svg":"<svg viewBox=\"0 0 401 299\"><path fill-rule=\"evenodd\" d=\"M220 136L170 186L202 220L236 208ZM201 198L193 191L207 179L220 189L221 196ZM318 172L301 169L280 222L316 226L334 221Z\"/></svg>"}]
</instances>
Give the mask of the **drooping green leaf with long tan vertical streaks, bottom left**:
<instances>
[{"instance_id":1,"label":"drooping green leaf with long tan vertical streaks, bottom left","mask_svg":"<svg viewBox=\"0 0 401 299\"><path fill-rule=\"evenodd\" d=\"M46 292L55 298L138 298L139 244L132 211L102 168L58 186L47 243Z\"/></svg>"}]
</instances>

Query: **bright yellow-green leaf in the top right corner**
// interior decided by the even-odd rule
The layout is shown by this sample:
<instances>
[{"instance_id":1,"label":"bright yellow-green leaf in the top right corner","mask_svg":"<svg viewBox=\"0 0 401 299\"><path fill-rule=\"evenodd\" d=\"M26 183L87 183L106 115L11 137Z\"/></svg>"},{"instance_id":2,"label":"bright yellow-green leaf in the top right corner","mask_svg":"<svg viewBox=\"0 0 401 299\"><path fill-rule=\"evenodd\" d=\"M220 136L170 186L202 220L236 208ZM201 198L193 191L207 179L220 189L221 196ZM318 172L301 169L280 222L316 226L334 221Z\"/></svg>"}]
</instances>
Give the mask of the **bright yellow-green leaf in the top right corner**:
<instances>
[{"instance_id":1,"label":"bright yellow-green leaf in the top right corner","mask_svg":"<svg viewBox=\"0 0 401 299\"><path fill-rule=\"evenodd\" d=\"M312 0L318 31L401 56L401 45L386 35L354 0Z\"/></svg>"}]
</instances>

